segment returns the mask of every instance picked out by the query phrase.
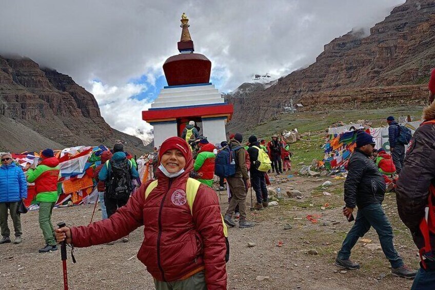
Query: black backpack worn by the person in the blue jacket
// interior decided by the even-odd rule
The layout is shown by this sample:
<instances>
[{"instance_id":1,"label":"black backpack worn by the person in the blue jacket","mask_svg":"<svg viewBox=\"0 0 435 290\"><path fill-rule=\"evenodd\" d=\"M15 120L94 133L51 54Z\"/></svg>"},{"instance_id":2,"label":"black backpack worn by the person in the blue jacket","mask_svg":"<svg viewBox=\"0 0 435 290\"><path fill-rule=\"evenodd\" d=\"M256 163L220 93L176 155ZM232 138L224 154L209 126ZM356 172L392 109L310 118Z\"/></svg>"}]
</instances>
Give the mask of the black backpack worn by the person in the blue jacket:
<instances>
[{"instance_id":1,"label":"black backpack worn by the person in the blue jacket","mask_svg":"<svg viewBox=\"0 0 435 290\"><path fill-rule=\"evenodd\" d=\"M106 181L106 192L108 197L112 199L128 198L133 189L130 171L133 166L132 162L125 158L116 161L108 160L106 165L109 169L109 178Z\"/></svg>"}]
</instances>

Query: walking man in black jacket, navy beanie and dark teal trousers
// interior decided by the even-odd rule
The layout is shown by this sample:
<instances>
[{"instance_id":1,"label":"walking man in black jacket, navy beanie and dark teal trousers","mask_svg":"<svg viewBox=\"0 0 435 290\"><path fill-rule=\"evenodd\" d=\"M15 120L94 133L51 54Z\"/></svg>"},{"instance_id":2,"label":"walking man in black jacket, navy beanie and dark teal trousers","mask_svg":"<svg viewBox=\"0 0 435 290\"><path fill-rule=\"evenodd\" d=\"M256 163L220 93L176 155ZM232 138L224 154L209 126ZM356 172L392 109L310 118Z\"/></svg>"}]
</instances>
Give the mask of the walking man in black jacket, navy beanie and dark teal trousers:
<instances>
[{"instance_id":1,"label":"walking man in black jacket, navy beanie and dark teal trousers","mask_svg":"<svg viewBox=\"0 0 435 290\"><path fill-rule=\"evenodd\" d=\"M381 206L385 182L378 167L370 159L373 148L373 137L364 131L359 132L357 148L350 157L349 172L344 183L346 207L343 209L343 214L349 218L355 206L358 206L358 214L334 264L349 270L360 268L360 264L350 261L350 251L358 239L373 227L378 233L382 250L391 263L391 273L394 276L412 278L416 276L416 271L408 268L394 249L393 230Z\"/></svg>"}]
</instances>

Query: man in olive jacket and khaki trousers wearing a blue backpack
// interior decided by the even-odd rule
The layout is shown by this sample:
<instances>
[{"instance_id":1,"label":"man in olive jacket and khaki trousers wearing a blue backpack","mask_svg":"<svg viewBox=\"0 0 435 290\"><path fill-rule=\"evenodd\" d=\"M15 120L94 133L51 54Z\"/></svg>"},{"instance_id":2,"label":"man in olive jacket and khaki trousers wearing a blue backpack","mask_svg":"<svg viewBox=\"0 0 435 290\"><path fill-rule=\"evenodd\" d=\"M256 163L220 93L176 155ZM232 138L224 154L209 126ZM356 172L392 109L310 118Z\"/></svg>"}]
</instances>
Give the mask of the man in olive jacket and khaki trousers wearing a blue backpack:
<instances>
[{"instance_id":1,"label":"man in olive jacket and khaki trousers wearing a blue backpack","mask_svg":"<svg viewBox=\"0 0 435 290\"><path fill-rule=\"evenodd\" d=\"M248 170L246 168L245 160L245 149L242 147L243 136L241 133L235 133L234 138L230 140L230 148L234 152L235 160L235 175L232 177L227 177L227 184L230 188L232 198L230 204L228 205L227 213L225 215L224 221L229 226L235 226L236 224L231 219L232 214L235 210L236 205L239 205L240 220L239 227L252 227L255 225L254 222L246 221L246 188L251 187L249 181ZM245 187L246 182L246 187Z\"/></svg>"}]
</instances>

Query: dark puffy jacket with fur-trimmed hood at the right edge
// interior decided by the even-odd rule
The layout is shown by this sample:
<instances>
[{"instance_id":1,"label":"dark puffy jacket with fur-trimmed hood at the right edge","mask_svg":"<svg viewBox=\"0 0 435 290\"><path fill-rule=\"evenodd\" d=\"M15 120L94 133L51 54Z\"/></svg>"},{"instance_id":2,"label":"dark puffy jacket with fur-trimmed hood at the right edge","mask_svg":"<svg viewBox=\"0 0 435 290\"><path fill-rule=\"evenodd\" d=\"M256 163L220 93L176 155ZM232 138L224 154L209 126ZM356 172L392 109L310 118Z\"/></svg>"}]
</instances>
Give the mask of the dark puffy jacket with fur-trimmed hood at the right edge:
<instances>
[{"instance_id":1,"label":"dark puffy jacket with fur-trimmed hood at the right edge","mask_svg":"<svg viewBox=\"0 0 435 290\"><path fill-rule=\"evenodd\" d=\"M411 230L414 243L424 246L419 225L424 217L430 184L435 185L435 102L423 112L422 123L409 142L405 164L397 182L396 199L399 216ZM431 235L435 249L435 236Z\"/></svg>"}]
</instances>

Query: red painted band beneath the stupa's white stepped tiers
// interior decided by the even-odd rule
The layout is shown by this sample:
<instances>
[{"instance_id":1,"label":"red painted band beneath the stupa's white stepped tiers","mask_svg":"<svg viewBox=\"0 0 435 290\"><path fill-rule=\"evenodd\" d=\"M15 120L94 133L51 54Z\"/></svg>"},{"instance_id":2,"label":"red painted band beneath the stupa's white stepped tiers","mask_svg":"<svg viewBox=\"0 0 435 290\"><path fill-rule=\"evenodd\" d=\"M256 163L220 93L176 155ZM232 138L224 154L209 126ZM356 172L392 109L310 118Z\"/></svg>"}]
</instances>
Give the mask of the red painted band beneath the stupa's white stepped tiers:
<instances>
[{"instance_id":1,"label":"red painted band beneath the stupa's white stepped tiers","mask_svg":"<svg viewBox=\"0 0 435 290\"><path fill-rule=\"evenodd\" d=\"M207 116L225 116L228 115L228 120L231 119L234 112L232 104L217 105L217 106L204 106L194 108L180 108L180 109L162 109L143 111L142 119L147 122L155 122L157 120L173 120L179 118L189 117L207 117Z\"/></svg>"}]
</instances>

